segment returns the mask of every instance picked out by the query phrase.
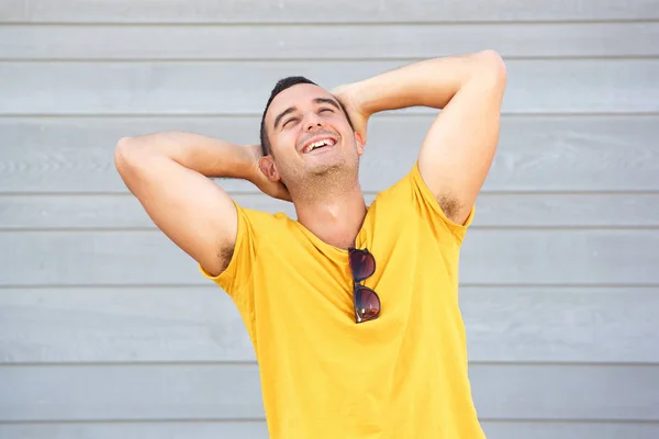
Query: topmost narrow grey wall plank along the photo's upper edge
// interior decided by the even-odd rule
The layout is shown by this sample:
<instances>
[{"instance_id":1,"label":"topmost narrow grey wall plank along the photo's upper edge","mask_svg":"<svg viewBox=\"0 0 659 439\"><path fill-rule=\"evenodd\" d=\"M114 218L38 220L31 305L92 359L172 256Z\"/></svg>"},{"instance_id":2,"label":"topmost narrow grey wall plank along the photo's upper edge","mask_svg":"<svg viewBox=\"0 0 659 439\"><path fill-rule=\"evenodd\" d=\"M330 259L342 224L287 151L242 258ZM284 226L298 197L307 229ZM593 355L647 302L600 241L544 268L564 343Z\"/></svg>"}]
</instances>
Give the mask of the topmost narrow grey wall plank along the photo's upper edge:
<instances>
[{"instance_id":1,"label":"topmost narrow grey wall plank along the photo's upper edge","mask_svg":"<svg viewBox=\"0 0 659 439\"><path fill-rule=\"evenodd\" d=\"M656 20L655 0L4 0L0 22L66 23L342 23L459 21Z\"/></svg>"}]
</instances>

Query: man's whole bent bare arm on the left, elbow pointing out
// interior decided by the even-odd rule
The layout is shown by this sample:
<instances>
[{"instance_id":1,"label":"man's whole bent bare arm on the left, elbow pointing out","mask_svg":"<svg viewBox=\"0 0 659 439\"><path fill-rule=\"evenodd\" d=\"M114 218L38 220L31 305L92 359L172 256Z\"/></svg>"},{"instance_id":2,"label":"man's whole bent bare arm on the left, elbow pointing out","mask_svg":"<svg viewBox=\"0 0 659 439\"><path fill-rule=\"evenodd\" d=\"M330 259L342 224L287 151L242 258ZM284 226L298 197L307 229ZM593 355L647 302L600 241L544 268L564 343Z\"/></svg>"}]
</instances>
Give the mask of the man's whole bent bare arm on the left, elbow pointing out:
<instances>
[{"instance_id":1,"label":"man's whole bent bare arm on the left, elbow pointing out","mask_svg":"<svg viewBox=\"0 0 659 439\"><path fill-rule=\"evenodd\" d=\"M257 183L259 150L197 134L158 133L119 140L114 162L156 226L217 275L233 254L237 213L228 194L209 178Z\"/></svg>"}]
</instances>

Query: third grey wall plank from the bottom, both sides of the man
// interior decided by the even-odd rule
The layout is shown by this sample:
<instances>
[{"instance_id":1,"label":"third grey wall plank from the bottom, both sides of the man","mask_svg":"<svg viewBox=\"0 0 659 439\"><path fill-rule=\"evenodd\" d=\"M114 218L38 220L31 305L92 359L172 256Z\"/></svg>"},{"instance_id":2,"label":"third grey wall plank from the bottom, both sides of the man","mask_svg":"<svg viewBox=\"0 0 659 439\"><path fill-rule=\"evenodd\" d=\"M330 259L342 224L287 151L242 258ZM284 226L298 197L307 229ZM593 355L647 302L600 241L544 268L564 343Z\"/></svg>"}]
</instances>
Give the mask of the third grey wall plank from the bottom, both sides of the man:
<instances>
[{"instance_id":1,"label":"third grey wall plank from the bottom, both sides of the man","mask_svg":"<svg viewBox=\"0 0 659 439\"><path fill-rule=\"evenodd\" d=\"M659 363L659 288L462 286L471 362ZM0 289L0 363L255 361L216 286Z\"/></svg>"}]
</instances>

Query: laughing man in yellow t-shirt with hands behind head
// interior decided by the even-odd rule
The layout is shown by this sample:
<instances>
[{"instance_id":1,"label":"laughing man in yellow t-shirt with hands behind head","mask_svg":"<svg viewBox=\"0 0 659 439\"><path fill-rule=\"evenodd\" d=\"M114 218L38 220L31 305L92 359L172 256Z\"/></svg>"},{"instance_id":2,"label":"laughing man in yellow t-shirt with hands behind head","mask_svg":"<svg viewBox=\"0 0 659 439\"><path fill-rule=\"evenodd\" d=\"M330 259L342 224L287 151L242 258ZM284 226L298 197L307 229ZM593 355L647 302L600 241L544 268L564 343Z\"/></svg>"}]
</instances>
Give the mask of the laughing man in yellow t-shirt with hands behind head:
<instances>
[{"instance_id":1,"label":"laughing man in yellow t-shirt with hands behind head","mask_svg":"<svg viewBox=\"0 0 659 439\"><path fill-rule=\"evenodd\" d=\"M268 101L261 145L185 133L120 140L126 185L241 312L271 438L484 437L458 257L496 149L505 77L490 50L333 93L291 77ZM413 169L367 206L367 122L412 105L442 112ZM244 209L208 177L249 180L292 201L298 219Z\"/></svg>"}]
</instances>

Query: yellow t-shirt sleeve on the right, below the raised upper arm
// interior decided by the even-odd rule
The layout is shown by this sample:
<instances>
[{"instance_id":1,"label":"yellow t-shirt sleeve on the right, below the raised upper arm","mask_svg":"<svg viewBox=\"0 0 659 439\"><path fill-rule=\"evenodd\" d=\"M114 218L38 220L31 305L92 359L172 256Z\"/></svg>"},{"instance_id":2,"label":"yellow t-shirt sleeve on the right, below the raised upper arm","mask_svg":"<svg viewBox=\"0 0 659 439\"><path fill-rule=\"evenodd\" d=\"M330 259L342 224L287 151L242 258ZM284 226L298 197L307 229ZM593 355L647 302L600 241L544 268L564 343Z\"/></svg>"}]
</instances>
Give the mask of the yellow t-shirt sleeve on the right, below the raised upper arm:
<instances>
[{"instance_id":1,"label":"yellow t-shirt sleeve on the right, below the raised upper arm","mask_svg":"<svg viewBox=\"0 0 659 439\"><path fill-rule=\"evenodd\" d=\"M431 224L435 238L439 238L448 232L453 235L458 245L462 244L467 229L473 219L474 205L471 206L469 216L463 224L458 224L449 219L421 176L418 164L414 165L410 173L401 181L401 183L405 185L409 184L413 206L416 213L422 215L422 217Z\"/></svg>"}]
</instances>

